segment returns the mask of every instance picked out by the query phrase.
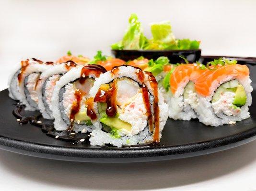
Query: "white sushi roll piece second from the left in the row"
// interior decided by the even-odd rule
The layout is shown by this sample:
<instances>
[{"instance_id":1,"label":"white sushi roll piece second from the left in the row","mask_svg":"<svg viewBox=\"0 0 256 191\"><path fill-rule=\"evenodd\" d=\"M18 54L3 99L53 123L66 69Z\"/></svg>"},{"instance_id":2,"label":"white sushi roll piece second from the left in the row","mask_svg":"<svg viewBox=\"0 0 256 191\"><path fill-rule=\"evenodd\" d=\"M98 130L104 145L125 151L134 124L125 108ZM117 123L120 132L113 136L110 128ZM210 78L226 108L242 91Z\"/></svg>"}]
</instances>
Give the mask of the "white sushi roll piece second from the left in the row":
<instances>
[{"instance_id":1,"label":"white sushi roll piece second from the left in the row","mask_svg":"<svg viewBox=\"0 0 256 191\"><path fill-rule=\"evenodd\" d=\"M52 115L51 98L56 82L63 74L76 66L77 64L73 61L53 65L51 68L44 71L38 78L36 85L38 107L44 118L54 119Z\"/></svg>"}]
</instances>

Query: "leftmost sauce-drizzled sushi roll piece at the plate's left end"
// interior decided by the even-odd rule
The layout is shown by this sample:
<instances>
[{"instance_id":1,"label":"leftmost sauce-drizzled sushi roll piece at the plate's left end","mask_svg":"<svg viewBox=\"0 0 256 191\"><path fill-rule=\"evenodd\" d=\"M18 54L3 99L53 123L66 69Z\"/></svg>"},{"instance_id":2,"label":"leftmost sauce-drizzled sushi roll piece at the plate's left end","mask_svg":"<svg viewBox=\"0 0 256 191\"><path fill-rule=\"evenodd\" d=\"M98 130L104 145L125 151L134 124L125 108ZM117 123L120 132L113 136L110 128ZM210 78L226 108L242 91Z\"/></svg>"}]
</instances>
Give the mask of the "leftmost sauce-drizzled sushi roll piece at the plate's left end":
<instances>
[{"instance_id":1,"label":"leftmost sauce-drizzled sushi roll piece at the plate's left end","mask_svg":"<svg viewBox=\"0 0 256 191\"><path fill-rule=\"evenodd\" d=\"M24 104L25 110L35 111L38 109L38 96L36 82L42 72L50 68L54 63L43 63L35 58L21 61L15 68L15 72L9 79L9 96Z\"/></svg>"}]
</instances>

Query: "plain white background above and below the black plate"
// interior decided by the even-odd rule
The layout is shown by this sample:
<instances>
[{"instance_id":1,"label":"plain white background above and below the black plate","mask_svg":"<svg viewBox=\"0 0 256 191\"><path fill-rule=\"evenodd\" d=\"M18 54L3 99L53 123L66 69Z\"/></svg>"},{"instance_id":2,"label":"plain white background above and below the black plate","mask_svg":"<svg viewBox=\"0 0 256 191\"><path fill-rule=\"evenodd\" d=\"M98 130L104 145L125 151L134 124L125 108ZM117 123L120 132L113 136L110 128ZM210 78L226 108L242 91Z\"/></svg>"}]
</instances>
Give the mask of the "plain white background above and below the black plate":
<instances>
[{"instance_id":1,"label":"plain white background above and below the black plate","mask_svg":"<svg viewBox=\"0 0 256 191\"><path fill-rule=\"evenodd\" d=\"M170 20L176 38L201 41L202 54L256 56L253 0L0 0L0 89L13 65L55 61L68 50L110 54L130 13L145 34ZM207 156L136 164L54 161L0 150L1 190L256 190L256 141Z\"/></svg>"}]
</instances>

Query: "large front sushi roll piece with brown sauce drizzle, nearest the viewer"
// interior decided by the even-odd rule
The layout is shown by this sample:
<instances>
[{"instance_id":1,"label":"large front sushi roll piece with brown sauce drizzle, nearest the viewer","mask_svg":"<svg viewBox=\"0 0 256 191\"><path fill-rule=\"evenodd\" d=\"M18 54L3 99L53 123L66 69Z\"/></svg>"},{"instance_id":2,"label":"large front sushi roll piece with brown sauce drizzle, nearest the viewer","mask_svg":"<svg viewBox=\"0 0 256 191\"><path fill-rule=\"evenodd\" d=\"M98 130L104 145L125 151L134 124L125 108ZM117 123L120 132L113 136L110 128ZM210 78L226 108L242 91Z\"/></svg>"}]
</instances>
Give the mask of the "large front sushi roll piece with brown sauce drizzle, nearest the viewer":
<instances>
[{"instance_id":1,"label":"large front sushi roll piece with brown sauce drizzle, nearest the viewer","mask_svg":"<svg viewBox=\"0 0 256 191\"><path fill-rule=\"evenodd\" d=\"M96 127L91 145L122 147L160 141L168 106L152 73L116 66L95 80L90 95L87 114Z\"/></svg>"}]
</instances>

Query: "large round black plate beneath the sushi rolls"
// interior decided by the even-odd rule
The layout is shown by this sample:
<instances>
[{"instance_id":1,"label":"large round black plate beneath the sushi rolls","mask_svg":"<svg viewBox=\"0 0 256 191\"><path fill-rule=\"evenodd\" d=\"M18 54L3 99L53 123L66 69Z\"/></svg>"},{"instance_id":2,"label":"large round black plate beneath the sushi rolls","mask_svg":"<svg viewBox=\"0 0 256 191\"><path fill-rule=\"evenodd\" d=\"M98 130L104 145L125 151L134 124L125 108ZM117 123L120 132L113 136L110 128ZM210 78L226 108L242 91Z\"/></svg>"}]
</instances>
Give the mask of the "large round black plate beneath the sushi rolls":
<instances>
[{"instance_id":1,"label":"large round black plate beneath the sushi rolls","mask_svg":"<svg viewBox=\"0 0 256 191\"><path fill-rule=\"evenodd\" d=\"M212 58L203 56L201 61L206 62ZM254 59L241 62L248 64L251 78L256 82ZM256 87L254 83L252 85ZM256 91L253 91L252 96L256 96ZM163 129L161 146L101 148L88 144L74 145L48 137L39 127L19 125L12 115L13 104L16 102L8 97L7 90L0 92L0 98L0 148L35 157L84 162L144 162L208 154L256 139L255 99L250 107L251 117L234 125L208 127L198 120L168 119Z\"/></svg>"}]
</instances>

